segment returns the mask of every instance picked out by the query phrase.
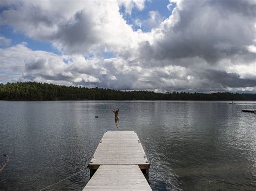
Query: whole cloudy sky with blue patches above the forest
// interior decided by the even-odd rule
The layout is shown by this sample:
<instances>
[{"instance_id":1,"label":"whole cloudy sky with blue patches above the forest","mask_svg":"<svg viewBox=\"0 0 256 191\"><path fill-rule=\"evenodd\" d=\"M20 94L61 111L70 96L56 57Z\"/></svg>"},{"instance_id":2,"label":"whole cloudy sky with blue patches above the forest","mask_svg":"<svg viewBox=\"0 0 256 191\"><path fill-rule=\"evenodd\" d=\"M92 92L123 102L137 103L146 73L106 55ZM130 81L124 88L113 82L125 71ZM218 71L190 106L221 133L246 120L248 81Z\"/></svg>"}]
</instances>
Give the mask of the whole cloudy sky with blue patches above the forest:
<instances>
[{"instance_id":1,"label":"whole cloudy sky with blue patches above the forest","mask_svg":"<svg viewBox=\"0 0 256 191\"><path fill-rule=\"evenodd\" d=\"M256 0L1 0L0 83L256 93Z\"/></svg>"}]
</instances>

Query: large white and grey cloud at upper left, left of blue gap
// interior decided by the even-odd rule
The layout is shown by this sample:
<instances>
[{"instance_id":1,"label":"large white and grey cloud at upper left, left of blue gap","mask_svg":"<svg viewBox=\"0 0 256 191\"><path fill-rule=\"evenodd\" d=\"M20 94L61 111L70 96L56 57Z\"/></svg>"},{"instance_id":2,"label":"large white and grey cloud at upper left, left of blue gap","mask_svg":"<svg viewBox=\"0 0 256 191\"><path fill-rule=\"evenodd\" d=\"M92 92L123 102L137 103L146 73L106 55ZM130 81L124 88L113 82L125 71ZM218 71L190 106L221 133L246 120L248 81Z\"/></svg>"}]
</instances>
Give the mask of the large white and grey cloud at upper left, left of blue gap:
<instances>
[{"instance_id":1,"label":"large white and grey cloud at upper left, left of blue gap","mask_svg":"<svg viewBox=\"0 0 256 191\"><path fill-rule=\"evenodd\" d=\"M8 2L6 2L8 3ZM144 1L11 1L3 24L30 38L50 41L63 53L130 49L136 35L119 13L144 8ZM58 4L58 6L56 6Z\"/></svg>"}]
</instances>

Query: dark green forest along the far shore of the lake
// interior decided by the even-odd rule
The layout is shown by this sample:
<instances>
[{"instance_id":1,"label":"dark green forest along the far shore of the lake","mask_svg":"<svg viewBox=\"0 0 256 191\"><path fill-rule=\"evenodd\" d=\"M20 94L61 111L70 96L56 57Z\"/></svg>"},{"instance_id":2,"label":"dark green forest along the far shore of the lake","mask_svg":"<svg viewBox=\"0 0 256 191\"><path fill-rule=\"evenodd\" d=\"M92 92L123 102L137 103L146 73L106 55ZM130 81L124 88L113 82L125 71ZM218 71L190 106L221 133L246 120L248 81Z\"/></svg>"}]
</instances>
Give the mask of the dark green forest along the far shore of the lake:
<instances>
[{"instance_id":1,"label":"dark green forest along the far shore of the lake","mask_svg":"<svg viewBox=\"0 0 256 191\"><path fill-rule=\"evenodd\" d=\"M55 100L194 100L194 101L256 101L256 94L186 93L154 91L120 91L105 88L60 86L39 82L0 83L0 100L55 101Z\"/></svg>"}]
</instances>

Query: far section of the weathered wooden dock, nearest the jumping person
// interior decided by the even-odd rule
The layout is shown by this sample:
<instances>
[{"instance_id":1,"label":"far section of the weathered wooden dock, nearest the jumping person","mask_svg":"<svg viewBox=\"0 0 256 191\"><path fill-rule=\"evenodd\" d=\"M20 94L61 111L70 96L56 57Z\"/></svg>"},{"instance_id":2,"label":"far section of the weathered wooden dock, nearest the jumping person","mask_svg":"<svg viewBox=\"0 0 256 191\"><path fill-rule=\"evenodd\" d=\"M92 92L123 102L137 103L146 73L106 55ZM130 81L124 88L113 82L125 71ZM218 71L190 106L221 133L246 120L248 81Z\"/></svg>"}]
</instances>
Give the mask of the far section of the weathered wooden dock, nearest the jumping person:
<instances>
[{"instance_id":1,"label":"far section of the weathered wooden dock, nearest the jumping person","mask_svg":"<svg viewBox=\"0 0 256 191\"><path fill-rule=\"evenodd\" d=\"M149 168L142 144L135 131L107 131L90 163L94 165L142 165Z\"/></svg>"}]
</instances>

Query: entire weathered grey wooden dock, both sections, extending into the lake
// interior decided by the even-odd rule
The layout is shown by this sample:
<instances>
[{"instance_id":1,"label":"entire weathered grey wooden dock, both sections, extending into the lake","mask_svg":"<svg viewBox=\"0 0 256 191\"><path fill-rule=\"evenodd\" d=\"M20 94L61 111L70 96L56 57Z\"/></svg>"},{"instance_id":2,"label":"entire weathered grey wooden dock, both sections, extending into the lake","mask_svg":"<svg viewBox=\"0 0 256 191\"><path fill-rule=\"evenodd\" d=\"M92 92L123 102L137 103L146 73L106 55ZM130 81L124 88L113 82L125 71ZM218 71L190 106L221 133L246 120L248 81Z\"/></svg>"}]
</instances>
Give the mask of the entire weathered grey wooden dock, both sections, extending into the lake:
<instances>
[{"instance_id":1,"label":"entire weathered grey wooden dock, both sections, extending into the lake","mask_svg":"<svg viewBox=\"0 0 256 191\"><path fill-rule=\"evenodd\" d=\"M152 190L143 173L150 164L135 131L107 131L89 164L83 190Z\"/></svg>"}]
</instances>

